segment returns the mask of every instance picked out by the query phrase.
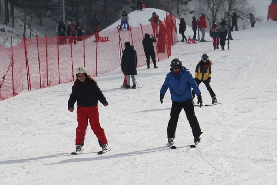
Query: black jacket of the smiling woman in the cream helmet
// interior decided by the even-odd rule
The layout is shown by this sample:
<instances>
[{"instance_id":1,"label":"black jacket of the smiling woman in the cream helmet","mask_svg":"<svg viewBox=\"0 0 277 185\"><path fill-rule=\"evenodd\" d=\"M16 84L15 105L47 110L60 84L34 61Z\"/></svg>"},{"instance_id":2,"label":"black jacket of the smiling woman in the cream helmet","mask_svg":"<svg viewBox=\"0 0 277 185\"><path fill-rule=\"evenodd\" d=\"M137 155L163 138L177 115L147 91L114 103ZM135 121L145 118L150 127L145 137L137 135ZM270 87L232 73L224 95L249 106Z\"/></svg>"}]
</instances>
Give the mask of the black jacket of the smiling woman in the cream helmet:
<instances>
[{"instance_id":1,"label":"black jacket of the smiling woman in the cream helmet","mask_svg":"<svg viewBox=\"0 0 277 185\"><path fill-rule=\"evenodd\" d=\"M90 107L98 105L98 100L103 105L108 103L97 83L87 78L79 86L72 86L72 92L68 100L68 109L73 108L76 101L78 106Z\"/></svg>"}]
</instances>

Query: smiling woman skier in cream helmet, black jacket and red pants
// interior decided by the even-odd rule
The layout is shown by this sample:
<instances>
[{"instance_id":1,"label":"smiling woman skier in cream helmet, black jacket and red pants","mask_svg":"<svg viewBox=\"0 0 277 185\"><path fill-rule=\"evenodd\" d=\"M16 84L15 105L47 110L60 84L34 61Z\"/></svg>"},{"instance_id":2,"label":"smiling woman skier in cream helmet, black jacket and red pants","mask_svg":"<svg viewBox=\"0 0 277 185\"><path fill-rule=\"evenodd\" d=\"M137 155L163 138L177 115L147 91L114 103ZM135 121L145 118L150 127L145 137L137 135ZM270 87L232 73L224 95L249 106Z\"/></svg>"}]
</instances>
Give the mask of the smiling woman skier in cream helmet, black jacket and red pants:
<instances>
[{"instance_id":1,"label":"smiling woman skier in cream helmet, black jacket and red pants","mask_svg":"<svg viewBox=\"0 0 277 185\"><path fill-rule=\"evenodd\" d=\"M84 67L76 69L76 77L77 79L72 86L72 92L68 100L69 112L73 112L74 104L77 101L78 127L76 128L75 139L76 151L81 151L84 146L88 120L93 133L98 138L102 151L107 151L109 150L108 140L104 129L100 126L98 101L105 107L108 105L108 102L96 81L90 75L87 75Z\"/></svg>"}]
</instances>

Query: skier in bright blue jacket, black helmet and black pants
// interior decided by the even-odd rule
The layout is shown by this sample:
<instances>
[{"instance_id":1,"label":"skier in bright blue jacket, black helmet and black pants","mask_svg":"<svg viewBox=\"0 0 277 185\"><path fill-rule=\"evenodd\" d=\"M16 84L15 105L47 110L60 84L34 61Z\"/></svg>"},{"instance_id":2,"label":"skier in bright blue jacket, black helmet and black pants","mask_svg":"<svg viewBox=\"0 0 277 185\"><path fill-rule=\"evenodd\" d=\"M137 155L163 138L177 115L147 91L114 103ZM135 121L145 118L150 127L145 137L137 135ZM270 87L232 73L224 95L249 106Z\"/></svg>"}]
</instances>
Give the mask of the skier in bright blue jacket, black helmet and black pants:
<instances>
[{"instance_id":1,"label":"skier in bright blue jacket, black helmet and black pants","mask_svg":"<svg viewBox=\"0 0 277 185\"><path fill-rule=\"evenodd\" d=\"M201 92L197 83L194 81L192 74L188 69L182 66L182 61L179 58L173 59L170 66L170 72L167 73L164 84L160 90L161 103L163 103L164 95L168 88L170 90L172 101L170 119L167 125L168 146L171 147L174 144L177 122L182 109L184 109L192 129L194 142L195 144L198 144L202 132L195 116L191 88L193 88L197 94L200 107L202 106Z\"/></svg>"}]
</instances>

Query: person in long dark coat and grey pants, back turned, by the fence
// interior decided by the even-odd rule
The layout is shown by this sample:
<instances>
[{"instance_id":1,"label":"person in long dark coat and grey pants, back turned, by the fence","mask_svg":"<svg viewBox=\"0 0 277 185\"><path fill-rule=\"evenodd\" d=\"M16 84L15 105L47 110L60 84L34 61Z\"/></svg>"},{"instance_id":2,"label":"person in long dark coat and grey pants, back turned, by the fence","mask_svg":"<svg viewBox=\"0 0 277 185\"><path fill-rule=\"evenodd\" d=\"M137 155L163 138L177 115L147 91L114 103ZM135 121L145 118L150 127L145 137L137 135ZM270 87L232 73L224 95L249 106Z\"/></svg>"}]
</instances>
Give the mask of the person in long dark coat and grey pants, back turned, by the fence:
<instances>
[{"instance_id":1,"label":"person in long dark coat and grey pants, back turned, by the fence","mask_svg":"<svg viewBox=\"0 0 277 185\"><path fill-rule=\"evenodd\" d=\"M127 84L126 84L126 89L131 88L130 86L130 75L132 78L133 86L132 88L136 88L136 79L135 75L137 75L136 71L136 66L138 64L138 57L136 55L136 50L134 50L134 47L130 45L130 42L125 42L124 44L124 51L122 54L122 72L125 73L126 79L127 79Z\"/></svg>"}]
</instances>

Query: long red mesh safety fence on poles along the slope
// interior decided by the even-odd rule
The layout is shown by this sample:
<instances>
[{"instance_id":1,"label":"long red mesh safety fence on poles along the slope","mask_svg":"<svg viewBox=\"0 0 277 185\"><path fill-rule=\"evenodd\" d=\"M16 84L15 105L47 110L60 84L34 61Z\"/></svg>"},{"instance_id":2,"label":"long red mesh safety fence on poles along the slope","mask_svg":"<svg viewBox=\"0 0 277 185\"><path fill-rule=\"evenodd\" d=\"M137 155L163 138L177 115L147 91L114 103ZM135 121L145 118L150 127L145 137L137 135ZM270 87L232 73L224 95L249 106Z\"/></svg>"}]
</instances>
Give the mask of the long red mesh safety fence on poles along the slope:
<instances>
[{"instance_id":1,"label":"long red mesh safety fence on poles along the slope","mask_svg":"<svg viewBox=\"0 0 277 185\"><path fill-rule=\"evenodd\" d=\"M174 21L173 21L174 20ZM155 43L158 61L171 56L171 47L177 42L175 17L166 14L158 26ZM105 74L121 66L123 45L129 41L137 51L138 66L146 65L142 40L144 34L153 34L151 24L114 28L100 32L100 41L94 35L83 37L23 38L16 46L0 45L0 100L13 97L25 89L39 89L76 79L75 68L85 66L91 76Z\"/></svg>"}]
</instances>

